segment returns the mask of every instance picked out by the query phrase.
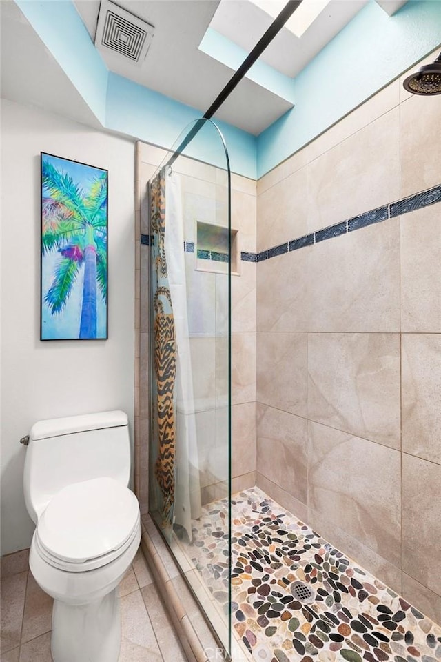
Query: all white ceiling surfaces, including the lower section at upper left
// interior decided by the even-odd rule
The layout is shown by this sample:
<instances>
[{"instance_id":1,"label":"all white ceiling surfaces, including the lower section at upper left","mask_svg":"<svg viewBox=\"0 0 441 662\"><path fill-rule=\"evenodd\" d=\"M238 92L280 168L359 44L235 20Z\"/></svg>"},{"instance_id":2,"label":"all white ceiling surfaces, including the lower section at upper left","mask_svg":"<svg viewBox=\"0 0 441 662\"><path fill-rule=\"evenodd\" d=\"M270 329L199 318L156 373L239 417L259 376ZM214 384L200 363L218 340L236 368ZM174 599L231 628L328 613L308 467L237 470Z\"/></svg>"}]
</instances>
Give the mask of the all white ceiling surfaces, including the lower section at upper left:
<instances>
[{"instance_id":1,"label":"all white ceiling surfaces, including the lower section at upper left","mask_svg":"<svg viewBox=\"0 0 441 662\"><path fill-rule=\"evenodd\" d=\"M291 79L367 1L331 0L301 39L283 28L261 61L291 85ZM377 1L389 6L403 4L402 0ZM100 48L107 68L201 113L209 108L236 68L198 48L207 28L249 52L273 21L247 0L117 0L117 4L154 26L154 37L141 66ZM74 0L74 5L94 41L100 0ZM91 123L92 113L18 6L12 0L1 0L0 6L3 96L80 121L87 118ZM283 94L245 78L216 112L216 118L258 135L291 106Z\"/></svg>"}]
</instances>

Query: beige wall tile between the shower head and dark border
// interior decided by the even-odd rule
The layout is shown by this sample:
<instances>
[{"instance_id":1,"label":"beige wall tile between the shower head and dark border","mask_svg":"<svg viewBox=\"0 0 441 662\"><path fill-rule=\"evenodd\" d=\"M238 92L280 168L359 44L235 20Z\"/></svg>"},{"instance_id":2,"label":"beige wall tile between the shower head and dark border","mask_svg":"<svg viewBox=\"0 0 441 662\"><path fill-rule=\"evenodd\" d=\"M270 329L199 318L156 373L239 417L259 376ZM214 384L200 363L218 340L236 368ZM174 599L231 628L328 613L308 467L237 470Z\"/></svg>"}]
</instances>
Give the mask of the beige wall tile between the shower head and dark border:
<instances>
[{"instance_id":1,"label":"beige wall tile between the shower head and dark border","mask_svg":"<svg viewBox=\"0 0 441 662\"><path fill-rule=\"evenodd\" d=\"M401 194L441 183L440 106L413 95L401 104ZM425 103L424 103L425 102Z\"/></svg>"}]
</instances>

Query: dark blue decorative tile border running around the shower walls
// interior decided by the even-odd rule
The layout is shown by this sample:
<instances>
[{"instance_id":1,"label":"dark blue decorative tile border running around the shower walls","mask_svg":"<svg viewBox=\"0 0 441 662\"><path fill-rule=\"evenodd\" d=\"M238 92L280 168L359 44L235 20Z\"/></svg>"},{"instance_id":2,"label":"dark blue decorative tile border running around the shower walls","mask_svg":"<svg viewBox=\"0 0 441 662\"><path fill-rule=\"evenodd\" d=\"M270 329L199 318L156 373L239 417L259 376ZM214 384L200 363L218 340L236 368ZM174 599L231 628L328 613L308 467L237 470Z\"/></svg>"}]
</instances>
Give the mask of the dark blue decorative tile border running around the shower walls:
<instances>
[{"instance_id":1,"label":"dark blue decorative tile border running around the shower walls","mask_svg":"<svg viewBox=\"0 0 441 662\"><path fill-rule=\"evenodd\" d=\"M283 255L287 252L298 250L299 248L305 248L305 246L311 246L314 243L319 243L326 239L340 237L342 234L347 234L354 230L360 230L360 228L367 228L369 225L373 225L373 223L381 223L382 221L387 221L387 219L393 219L397 216L402 216L403 214L409 214L409 212L415 212L418 209L429 207L429 205L434 205L436 203L441 203L441 184L429 188L426 191L410 195L397 202L390 203L389 205L371 209L368 212L354 216L346 221L339 221L338 223L334 223L334 225L329 225L328 228L322 228L322 230L311 232L311 234L305 234L303 237L297 237L297 239L285 241L285 243L272 246L259 253L241 252L240 259L243 262L263 262L269 260L271 257L277 257L278 255ZM141 244L149 245L148 234L141 234ZM194 253L194 243L184 241L184 250L189 253ZM228 261L227 255L210 250L198 250L197 256L198 259L216 260L220 262Z\"/></svg>"}]
</instances>

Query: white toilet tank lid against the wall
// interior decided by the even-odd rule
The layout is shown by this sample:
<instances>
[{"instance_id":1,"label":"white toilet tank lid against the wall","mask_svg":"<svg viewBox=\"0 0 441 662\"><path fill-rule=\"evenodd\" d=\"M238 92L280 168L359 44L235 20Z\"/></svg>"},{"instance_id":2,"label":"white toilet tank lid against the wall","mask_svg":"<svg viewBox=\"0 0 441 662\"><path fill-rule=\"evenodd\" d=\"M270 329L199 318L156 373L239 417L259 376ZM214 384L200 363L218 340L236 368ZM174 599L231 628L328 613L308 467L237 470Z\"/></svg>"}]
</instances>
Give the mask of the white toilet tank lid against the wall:
<instances>
[{"instance_id":1,"label":"white toilet tank lid against the wall","mask_svg":"<svg viewBox=\"0 0 441 662\"><path fill-rule=\"evenodd\" d=\"M123 425L127 425L127 414L121 411L83 414L82 416L70 416L64 419L47 419L32 425L30 438L36 441L37 439L61 437L63 434L73 434L74 432L118 428Z\"/></svg>"}]
</instances>

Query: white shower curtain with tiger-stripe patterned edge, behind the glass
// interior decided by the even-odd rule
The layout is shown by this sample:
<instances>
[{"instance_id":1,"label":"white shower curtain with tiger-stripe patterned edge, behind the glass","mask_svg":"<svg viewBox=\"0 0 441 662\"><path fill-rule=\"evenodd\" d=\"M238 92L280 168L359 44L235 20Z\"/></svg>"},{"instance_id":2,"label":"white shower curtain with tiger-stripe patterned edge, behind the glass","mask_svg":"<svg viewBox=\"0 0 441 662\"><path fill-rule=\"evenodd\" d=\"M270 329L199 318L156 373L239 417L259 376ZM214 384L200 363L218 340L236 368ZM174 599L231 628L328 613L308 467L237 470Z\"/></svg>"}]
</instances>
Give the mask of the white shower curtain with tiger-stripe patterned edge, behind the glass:
<instances>
[{"instance_id":1,"label":"white shower curtain with tiger-stripe patterned edge, behind the glass","mask_svg":"<svg viewBox=\"0 0 441 662\"><path fill-rule=\"evenodd\" d=\"M154 363L158 425L155 475L163 526L179 525L192 540L201 516L196 416L187 319L181 185L161 170L150 185L154 288Z\"/></svg>"}]
</instances>

